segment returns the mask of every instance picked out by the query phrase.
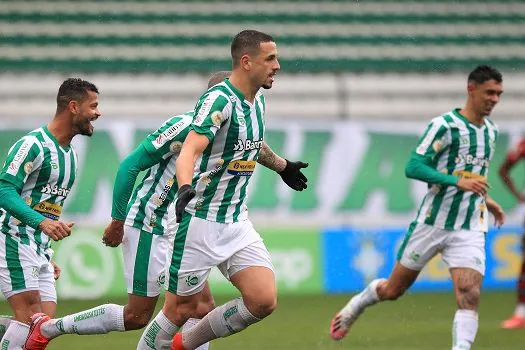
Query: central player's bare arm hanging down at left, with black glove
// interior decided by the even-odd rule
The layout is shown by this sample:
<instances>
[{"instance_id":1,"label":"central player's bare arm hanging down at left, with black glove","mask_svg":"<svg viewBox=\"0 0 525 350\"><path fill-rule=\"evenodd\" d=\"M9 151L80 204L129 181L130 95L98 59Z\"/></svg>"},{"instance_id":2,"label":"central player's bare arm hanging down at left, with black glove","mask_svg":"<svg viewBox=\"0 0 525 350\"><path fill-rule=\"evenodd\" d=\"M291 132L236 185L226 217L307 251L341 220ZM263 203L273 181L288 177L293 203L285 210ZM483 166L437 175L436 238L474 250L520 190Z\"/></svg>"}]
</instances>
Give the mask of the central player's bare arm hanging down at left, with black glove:
<instances>
[{"instance_id":1,"label":"central player's bare arm hanging down at left, with black glove","mask_svg":"<svg viewBox=\"0 0 525 350\"><path fill-rule=\"evenodd\" d=\"M175 203L175 215L177 222L181 222L182 213L188 203L195 197L195 190L191 187L193 168L195 162L202 155L202 152L210 144L210 139L204 134L198 134L194 130L190 131L186 140L182 144L179 158L175 163L175 174L179 190L177 191L177 202Z\"/></svg>"}]
</instances>

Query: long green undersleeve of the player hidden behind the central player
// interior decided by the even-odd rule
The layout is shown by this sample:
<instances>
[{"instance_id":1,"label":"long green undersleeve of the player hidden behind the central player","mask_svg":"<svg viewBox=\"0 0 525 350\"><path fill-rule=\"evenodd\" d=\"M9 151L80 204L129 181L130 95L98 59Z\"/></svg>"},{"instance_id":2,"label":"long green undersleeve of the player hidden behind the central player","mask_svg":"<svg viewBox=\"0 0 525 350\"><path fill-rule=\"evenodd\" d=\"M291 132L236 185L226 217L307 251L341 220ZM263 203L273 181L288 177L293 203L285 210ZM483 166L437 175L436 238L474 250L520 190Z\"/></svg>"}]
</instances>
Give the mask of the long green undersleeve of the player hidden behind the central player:
<instances>
[{"instance_id":1,"label":"long green undersleeve of the player hidden behind the central player","mask_svg":"<svg viewBox=\"0 0 525 350\"><path fill-rule=\"evenodd\" d=\"M151 155L144 145L139 145L120 164L115 185L113 187L113 205L111 208L111 217L116 220L124 221L126 219L126 210L137 176L141 171L151 168L159 163L161 158Z\"/></svg>"}]
</instances>

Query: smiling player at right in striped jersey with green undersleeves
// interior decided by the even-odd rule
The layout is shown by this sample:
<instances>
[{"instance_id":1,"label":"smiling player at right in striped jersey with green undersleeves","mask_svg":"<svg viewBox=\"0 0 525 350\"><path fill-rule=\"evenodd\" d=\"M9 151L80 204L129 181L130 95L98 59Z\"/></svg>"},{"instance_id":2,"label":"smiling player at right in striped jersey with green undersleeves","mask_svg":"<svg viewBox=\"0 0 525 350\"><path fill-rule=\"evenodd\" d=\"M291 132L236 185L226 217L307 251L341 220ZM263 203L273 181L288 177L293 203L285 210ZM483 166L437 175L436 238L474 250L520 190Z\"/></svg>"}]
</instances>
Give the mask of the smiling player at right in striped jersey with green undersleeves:
<instances>
[{"instance_id":1,"label":"smiling player at right in striped jersey with green undersleeves","mask_svg":"<svg viewBox=\"0 0 525 350\"><path fill-rule=\"evenodd\" d=\"M481 281L485 273L488 212L502 225L505 214L487 195L487 174L498 137L487 117L503 93L502 76L478 66L468 76L463 108L434 118L406 166L406 176L428 183L429 190L398 252L388 279L372 281L334 317L333 339L342 339L363 311L384 300L396 300L414 283L437 253L448 265L458 310L452 349L470 349L478 329ZM487 212L488 210L488 212Z\"/></svg>"}]
</instances>

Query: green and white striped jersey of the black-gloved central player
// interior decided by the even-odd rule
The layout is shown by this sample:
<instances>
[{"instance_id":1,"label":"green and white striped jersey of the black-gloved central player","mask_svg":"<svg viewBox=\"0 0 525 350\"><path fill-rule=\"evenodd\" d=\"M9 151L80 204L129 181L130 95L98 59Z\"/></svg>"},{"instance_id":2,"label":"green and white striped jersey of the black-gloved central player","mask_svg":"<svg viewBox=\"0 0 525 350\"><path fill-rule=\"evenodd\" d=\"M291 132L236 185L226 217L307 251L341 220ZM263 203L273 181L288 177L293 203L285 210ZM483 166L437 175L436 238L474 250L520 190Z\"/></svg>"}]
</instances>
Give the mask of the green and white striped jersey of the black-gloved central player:
<instances>
[{"instance_id":1,"label":"green and white striped jersey of the black-gloved central player","mask_svg":"<svg viewBox=\"0 0 525 350\"><path fill-rule=\"evenodd\" d=\"M210 144L195 164L196 196L186 211L209 221L246 220L247 187L264 136L264 96L252 103L228 79L201 96L192 129Z\"/></svg>"}]
</instances>

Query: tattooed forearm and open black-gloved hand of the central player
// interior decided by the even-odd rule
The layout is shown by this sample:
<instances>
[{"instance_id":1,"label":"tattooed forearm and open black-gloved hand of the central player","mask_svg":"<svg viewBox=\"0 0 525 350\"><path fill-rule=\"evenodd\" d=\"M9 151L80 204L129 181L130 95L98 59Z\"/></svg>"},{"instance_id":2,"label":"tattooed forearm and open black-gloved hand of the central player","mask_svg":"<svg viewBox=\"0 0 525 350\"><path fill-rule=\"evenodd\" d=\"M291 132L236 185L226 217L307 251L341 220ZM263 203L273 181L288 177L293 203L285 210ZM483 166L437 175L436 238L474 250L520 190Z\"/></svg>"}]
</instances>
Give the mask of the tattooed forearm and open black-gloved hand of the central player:
<instances>
[{"instance_id":1,"label":"tattooed forearm and open black-gloved hand of the central player","mask_svg":"<svg viewBox=\"0 0 525 350\"><path fill-rule=\"evenodd\" d=\"M308 167L308 163L292 162L277 155L266 142L262 143L257 162L268 169L277 172L283 181L292 189L302 191L307 188L308 179L301 169Z\"/></svg>"}]
</instances>

